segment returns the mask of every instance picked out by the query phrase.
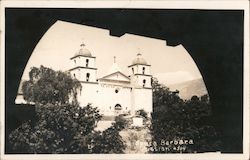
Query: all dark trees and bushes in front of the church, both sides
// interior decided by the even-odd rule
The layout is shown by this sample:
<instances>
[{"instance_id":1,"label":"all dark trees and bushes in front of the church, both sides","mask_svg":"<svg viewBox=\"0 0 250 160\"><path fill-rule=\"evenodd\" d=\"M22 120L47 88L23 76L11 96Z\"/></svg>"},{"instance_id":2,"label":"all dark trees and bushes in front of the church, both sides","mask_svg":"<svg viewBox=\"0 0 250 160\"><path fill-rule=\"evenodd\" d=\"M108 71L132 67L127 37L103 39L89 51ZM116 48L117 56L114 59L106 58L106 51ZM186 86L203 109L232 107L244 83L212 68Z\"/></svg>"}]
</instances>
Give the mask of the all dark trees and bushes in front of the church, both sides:
<instances>
[{"instance_id":1,"label":"all dark trees and bushes in front of the church, both sides","mask_svg":"<svg viewBox=\"0 0 250 160\"><path fill-rule=\"evenodd\" d=\"M218 151L219 135L211 123L209 97L182 100L153 79L153 113L137 111L147 123L145 135L149 153L196 153ZM27 102L35 103L35 122L26 121L9 135L14 153L124 153L126 144L135 150L134 130L124 133L129 123L122 116L104 131L95 127L102 116L91 105L80 106L81 84L67 73L33 67L22 90ZM73 97L73 98L72 98ZM148 131L151 134L148 136ZM124 142L120 136L129 142ZM136 130L135 130L136 131ZM144 132L142 132L144 133ZM134 138L133 138L134 137ZM143 144L144 145L144 144ZM139 151L138 151L139 152Z\"/></svg>"}]
</instances>

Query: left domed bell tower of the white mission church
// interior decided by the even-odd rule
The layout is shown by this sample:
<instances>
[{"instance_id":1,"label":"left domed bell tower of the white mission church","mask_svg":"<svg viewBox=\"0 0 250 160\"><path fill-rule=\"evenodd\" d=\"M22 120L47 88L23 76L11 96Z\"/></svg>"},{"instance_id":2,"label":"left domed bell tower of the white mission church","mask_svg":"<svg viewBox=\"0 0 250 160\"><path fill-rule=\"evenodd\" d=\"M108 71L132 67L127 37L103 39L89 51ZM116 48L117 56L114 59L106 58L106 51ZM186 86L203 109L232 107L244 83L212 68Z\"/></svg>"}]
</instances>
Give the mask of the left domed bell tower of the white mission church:
<instances>
[{"instance_id":1,"label":"left domed bell tower of the white mission church","mask_svg":"<svg viewBox=\"0 0 250 160\"><path fill-rule=\"evenodd\" d=\"M96 83L95 59L96 57L93 57L85 44L82 43L80 49L70 58L72 67L69 71L71 76L80 82Z\"/></svg>"}]
</instances>

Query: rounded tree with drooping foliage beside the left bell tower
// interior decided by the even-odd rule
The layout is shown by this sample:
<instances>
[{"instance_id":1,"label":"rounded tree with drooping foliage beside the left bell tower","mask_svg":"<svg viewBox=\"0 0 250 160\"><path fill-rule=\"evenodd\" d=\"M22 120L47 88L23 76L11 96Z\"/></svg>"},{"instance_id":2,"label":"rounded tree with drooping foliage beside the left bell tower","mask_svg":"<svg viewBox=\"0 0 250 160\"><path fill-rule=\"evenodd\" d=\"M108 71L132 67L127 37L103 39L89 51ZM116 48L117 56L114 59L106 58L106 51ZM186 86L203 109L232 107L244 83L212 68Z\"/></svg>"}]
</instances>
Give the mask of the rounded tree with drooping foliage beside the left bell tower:
<instances>
[{"instance_id":1,"label":"rounded tree with drooping foliage beside the left bell tower","mask_svg":"<svg viewBox=\"0 0 250 160\"><path fill-rule=\"evenodd\" d=\"M32 67L29 80L22 86L26 101L42 104L64 104L68 103L71 97L75 101L78 90L81 90L81 84L72 79L70 74L44 66Z\"/></svg>"}]
</instances>

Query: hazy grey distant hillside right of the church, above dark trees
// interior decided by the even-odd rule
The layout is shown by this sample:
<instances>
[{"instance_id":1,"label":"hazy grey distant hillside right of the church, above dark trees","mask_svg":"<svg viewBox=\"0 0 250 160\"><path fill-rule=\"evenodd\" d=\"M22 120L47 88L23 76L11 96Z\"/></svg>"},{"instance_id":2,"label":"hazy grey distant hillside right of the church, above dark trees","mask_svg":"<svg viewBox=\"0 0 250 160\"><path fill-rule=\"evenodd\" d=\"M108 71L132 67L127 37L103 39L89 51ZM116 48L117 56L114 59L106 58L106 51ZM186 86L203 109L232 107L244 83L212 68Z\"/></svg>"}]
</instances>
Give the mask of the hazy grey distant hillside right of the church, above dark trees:
<instances>
[{"instance_id":1,"label":"hazy grey distant hillside right of the church, above dark trees","mask_svg":"<svg viewBox=\"0 0 250 160\"><path fill-rule=\"evenodd\" d=\"M207 89L202 78L186 81L168 86L171 91L179 90L182 99L190 99L193 95L202 96L207 94Z\"/></svg>"}]
</instances>

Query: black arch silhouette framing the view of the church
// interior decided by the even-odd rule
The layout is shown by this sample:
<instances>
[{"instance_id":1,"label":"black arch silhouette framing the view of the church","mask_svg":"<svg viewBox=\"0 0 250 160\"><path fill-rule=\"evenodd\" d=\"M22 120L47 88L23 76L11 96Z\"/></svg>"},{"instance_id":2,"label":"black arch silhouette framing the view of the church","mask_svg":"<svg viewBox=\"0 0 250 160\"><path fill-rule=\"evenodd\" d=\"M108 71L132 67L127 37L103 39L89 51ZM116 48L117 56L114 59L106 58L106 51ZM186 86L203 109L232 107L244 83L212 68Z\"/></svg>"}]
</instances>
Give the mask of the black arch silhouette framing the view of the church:
<instances>
[{"instance_id":1,"label":"black arch silhouette framing the view of the church","mask_svg":"<svg viewBox=\"0 0 250 160\"><path fill-rule=\"evenodd\" d=\"M13 125L10 112L15 106L17 81L40 38L59 19L109 29L113 36L132 33L165 39L168 45L182 44L208 88L213 105L212 123L222 133L222 152L243 151L242 10L9 8L5 13L8 127Z\"/></svg>"}]
</instances>

